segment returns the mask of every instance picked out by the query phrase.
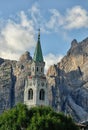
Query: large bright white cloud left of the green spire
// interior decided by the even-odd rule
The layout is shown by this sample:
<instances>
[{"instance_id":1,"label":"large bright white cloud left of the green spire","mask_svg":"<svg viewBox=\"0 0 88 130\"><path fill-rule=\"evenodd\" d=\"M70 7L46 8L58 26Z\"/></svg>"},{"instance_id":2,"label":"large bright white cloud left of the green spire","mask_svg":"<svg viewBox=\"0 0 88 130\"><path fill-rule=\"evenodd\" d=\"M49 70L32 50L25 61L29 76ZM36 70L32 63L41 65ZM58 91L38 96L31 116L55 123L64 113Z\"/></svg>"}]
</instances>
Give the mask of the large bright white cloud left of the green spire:
<instances>
[{"instance_id":1,"label":"large bright white cloud left of the green spire","mask_svg":"<svg viewBox=\"0 0 88 130\"><path fill-rule=\"evenodd\" d=\"M33 22L20 12L20 23L8 20L0 32L0 57L18 59L35 45Z\"/></svg>"}]
</instances>

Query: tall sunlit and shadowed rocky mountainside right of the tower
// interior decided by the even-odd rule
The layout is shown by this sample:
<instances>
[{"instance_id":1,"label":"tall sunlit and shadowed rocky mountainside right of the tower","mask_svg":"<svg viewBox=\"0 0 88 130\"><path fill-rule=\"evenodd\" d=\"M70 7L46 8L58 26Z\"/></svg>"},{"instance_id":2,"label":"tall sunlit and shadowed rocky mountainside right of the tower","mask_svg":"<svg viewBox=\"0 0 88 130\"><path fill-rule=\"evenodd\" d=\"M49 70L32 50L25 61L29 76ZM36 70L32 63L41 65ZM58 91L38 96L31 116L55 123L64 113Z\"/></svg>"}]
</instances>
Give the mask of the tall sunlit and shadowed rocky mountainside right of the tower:
<instances>
[{"instance_id":1,"label":"tall sunlit and shadowed rocky mountainside right of the tower","mask_svg":"<svg viewBox=\"0 0 88 130\"><path fill-rule=\"evenodd\" d=\"M67 55L47 72L51 104L76 121L88 119L88 38L73 40Z\"/></svg>"}]
</instances>

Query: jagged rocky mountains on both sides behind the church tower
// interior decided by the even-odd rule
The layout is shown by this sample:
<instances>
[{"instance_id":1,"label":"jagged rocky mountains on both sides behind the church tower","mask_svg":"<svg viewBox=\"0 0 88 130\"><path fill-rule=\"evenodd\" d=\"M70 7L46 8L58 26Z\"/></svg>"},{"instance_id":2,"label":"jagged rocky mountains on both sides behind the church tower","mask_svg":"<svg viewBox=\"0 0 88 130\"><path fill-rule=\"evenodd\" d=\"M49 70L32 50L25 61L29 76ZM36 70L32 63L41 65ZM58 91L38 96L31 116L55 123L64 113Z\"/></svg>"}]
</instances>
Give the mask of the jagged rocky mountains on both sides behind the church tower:
<instances>
[{"instance_id":1,"label":"jagged rocky mountains on both sides behind the church tower","mask_svg":"<svg viewBox=\"0 0 88 130\"><path fill-rule=\"evenodd\" d=\"M25 80L32 57L25 52L19 61L0 58L0 113L23 103ZM67 55L47 72L49 103L75 121L88 119L88 38L73 40Z\"/></svg>"}]
</instances>

